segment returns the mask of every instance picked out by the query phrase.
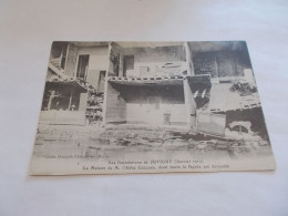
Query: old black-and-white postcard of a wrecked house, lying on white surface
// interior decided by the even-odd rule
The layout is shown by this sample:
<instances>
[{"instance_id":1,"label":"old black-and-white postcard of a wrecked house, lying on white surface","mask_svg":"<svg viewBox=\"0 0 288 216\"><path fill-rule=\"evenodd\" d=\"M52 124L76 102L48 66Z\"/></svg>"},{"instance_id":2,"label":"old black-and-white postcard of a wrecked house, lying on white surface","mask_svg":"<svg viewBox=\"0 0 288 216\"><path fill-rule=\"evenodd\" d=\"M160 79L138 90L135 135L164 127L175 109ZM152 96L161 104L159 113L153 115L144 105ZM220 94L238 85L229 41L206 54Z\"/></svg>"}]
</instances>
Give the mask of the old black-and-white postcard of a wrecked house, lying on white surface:
<instances>
[{"instance_id":1,"label":"old black-and-white postcard of a wrecked house, lying on white surface","mask_svg":"<svg viewBox=\"0 0 288 216\"><path fill-rule=\"evenodd\" d=\"M31 175L275 167L246 42L52 43Z\"/></svg>"}]
</instances>

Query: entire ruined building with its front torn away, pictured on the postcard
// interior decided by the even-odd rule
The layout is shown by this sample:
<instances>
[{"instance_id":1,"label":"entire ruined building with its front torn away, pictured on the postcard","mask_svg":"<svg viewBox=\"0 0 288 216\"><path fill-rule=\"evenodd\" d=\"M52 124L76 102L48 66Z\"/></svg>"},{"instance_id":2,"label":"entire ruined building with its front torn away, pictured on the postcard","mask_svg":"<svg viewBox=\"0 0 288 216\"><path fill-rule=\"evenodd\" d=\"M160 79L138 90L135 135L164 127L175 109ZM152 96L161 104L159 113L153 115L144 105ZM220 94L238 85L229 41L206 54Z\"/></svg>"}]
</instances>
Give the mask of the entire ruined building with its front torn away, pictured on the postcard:
<instances>
[{"instance_id":1,"label":"entire ruined building with its front torn away, pictured on the postcard","mask_svg":"<svg viewBox=\"0 0 288 216\"><path fill-rule=\"evenodd\" d=\"M54 42L40 123L266 132L245 42ZM264 133L266 134L266 133Z\"/></svg>"}]
</instances>

